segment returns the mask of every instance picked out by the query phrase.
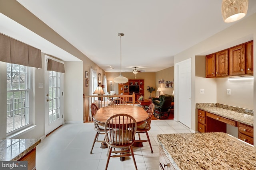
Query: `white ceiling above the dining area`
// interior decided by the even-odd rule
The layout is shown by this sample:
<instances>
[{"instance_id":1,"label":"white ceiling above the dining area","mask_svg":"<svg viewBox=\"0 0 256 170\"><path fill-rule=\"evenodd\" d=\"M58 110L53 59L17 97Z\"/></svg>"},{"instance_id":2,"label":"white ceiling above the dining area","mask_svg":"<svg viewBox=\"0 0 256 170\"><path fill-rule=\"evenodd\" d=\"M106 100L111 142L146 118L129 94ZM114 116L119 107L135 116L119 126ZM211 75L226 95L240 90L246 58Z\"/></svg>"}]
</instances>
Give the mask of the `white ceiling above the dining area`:
<instances>
[{"instance_id":1,"label":"white ceiling above the dining area","mask_svg":"<svg viewBox=\"0 0 256 170\"><path fill-rule=\"evenodd\" d=\"M106 72L120 71L118 33L124 33L122 71L139 66L156 72L173 66L174 55L234 24L222 20L222 0L17 1ZM255 12L256 0L249 0L246 17Z\"/></svg>"}]
</instances>

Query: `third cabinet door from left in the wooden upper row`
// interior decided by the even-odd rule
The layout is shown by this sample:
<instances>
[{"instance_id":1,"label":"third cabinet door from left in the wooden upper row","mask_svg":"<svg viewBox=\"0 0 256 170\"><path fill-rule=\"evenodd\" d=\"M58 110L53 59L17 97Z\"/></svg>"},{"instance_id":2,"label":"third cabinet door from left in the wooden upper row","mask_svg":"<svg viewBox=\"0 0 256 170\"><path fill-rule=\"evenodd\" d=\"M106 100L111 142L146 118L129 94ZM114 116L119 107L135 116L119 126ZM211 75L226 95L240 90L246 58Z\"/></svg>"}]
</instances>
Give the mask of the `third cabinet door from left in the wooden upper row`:
<instances>
[{"instance_id":1,"label":"third cabinet door from left in the wooden upper row","mask_svg":"<svg viewBox=\"0 0 256 170\"><path fill-rule=\"evenodd\" d=\"M245 74L245 45L229 49L229 73L231 76Z\"/></svg>"}]
</instances>

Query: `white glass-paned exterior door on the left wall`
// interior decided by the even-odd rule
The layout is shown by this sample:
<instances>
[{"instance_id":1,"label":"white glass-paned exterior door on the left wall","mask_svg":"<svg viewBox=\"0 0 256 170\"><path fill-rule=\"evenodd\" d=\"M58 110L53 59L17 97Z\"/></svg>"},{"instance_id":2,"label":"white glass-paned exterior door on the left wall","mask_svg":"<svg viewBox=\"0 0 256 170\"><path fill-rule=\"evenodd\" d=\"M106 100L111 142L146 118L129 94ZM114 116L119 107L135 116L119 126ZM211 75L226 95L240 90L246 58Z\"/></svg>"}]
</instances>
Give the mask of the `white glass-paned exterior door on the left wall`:
<instances>
[{"instance_id":1,"label":"white glass-paned exterior door on the left wall","mask_svg":"<svg viewBox=\"0 0 256 170\"><path fill-rule=\"evenodd\" d=\"M47 62L47 60L46 60ZM47 67L47 63L46 63ZM55 71L47 71L45 74L45 89L46 89L46 135L63 124L63 97L62 97L62 73Z\"/></svg>"}]
</instances>

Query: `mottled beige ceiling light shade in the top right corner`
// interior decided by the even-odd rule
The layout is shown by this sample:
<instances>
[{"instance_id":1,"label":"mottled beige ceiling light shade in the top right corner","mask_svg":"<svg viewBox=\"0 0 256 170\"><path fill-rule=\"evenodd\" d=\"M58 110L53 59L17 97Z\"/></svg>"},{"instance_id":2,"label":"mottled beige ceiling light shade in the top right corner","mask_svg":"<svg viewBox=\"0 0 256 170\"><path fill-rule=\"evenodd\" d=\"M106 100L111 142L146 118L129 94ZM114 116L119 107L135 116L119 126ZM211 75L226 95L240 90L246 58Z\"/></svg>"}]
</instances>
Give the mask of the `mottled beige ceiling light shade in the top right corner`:
<instances>
[{"instance_id":1,"label":"mottled beige ceiling light shade in the top right corner","mask_svg":"<svg viewBox=\"0 0 256 170\"><path fill-rule=\"evenodd\" d=\"M224 22L234 22L243 18L248 10L248 0L222 0L221 13Z\"/></svg>"}]
</instances>

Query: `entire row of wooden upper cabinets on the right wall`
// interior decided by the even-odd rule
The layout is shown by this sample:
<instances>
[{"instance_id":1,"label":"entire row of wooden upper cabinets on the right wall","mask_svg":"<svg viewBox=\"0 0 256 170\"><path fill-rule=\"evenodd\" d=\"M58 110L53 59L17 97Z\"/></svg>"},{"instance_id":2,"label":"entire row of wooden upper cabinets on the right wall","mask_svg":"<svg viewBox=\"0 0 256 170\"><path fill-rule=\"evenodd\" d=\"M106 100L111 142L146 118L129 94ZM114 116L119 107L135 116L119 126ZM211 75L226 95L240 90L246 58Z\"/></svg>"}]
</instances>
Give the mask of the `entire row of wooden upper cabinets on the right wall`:
<instances>
[{"instance_id":1,"label":"entire row of wooden upper cabinets on the right wall","mask_svg":"<svg viewBox=\"0 0 256 170\"><path fill-rule=\"evenodd\" d=\"M253 75L253 41L206 55L206 78Z\"/></svg>"}]
</instances>

